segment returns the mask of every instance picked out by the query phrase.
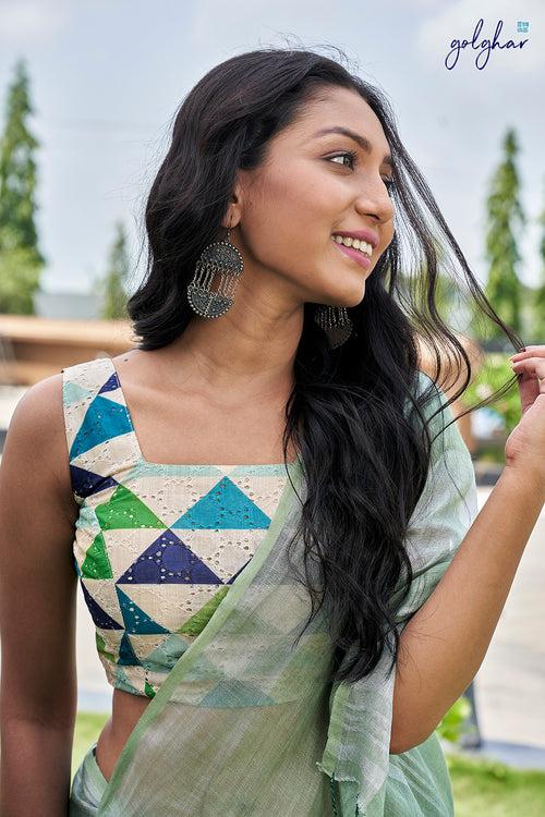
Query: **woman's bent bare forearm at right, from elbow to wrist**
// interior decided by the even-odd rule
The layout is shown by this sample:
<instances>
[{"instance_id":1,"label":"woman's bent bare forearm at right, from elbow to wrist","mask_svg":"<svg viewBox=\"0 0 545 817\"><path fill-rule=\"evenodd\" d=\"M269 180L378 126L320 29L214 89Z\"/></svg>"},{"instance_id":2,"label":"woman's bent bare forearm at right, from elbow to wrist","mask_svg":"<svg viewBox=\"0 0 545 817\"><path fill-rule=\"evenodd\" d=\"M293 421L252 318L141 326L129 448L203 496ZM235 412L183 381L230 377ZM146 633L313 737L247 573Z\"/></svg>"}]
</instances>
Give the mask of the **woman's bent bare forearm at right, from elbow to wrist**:
<instances>
[{"instance_id":1,"label":"woman's bent bare forearm at right, from elbow to wrist","mask_svg":"<svg viewBox=\"0 0 545 817\"><path fill-rule=\"evenodd\" d=\"M405 625L392 753L428 737L473 680L544 502L541 473L505 467L441 581Z\"/></svg>"}]
</instances>

